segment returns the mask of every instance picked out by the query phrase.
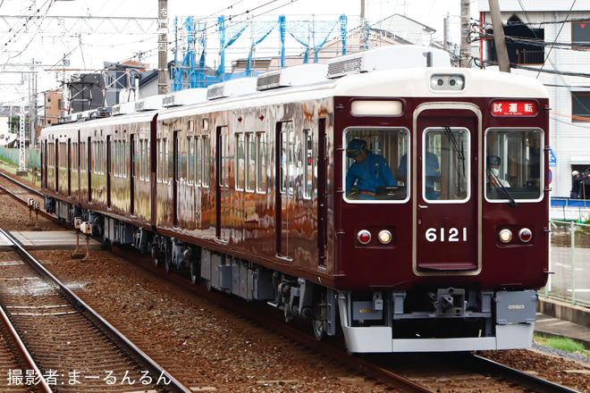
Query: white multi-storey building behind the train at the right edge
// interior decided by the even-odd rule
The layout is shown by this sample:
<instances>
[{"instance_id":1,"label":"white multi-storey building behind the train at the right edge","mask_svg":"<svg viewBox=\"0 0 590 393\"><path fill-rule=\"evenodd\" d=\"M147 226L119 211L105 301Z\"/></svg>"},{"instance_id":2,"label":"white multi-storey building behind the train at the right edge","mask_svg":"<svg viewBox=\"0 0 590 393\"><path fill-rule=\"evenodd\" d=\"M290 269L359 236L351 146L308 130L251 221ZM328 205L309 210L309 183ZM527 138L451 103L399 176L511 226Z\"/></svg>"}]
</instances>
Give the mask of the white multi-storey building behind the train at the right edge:
<instances>
[{"instance_id":1,"label":"white multi-storey building behind the train at the right edge","mask_svg":"<svg viewBox=\"0 0 590 393\"><path fill-rule=\"evenodd\" d=\"M499 4L511 71L540 79L549 91L551 196L569 197L571 172L590 171L590 0ZM488 1L477 7L492 33ZM493 40L480 43L483 59L495 62Z\"/></svg>"}]
</instances>

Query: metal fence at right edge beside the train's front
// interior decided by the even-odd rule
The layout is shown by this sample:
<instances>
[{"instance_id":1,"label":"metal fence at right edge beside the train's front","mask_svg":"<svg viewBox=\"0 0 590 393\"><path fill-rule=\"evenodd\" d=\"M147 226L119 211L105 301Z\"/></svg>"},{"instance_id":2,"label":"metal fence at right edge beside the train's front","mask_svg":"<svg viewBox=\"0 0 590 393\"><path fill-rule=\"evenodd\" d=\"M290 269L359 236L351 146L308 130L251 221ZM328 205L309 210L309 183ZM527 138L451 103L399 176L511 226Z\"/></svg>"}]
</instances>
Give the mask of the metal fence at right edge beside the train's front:
<instances>
[{"instance_id":1,"label":"metal fence at right edge beside the train's front","mask_svg":"<svg viewBox=\"0 0 590 393\"><path fill-rule=\"evenodd\" d=\"M590 225L551 221L549 270L553 272L540 293L590 307Z\"/></svg>"}]
</instances>

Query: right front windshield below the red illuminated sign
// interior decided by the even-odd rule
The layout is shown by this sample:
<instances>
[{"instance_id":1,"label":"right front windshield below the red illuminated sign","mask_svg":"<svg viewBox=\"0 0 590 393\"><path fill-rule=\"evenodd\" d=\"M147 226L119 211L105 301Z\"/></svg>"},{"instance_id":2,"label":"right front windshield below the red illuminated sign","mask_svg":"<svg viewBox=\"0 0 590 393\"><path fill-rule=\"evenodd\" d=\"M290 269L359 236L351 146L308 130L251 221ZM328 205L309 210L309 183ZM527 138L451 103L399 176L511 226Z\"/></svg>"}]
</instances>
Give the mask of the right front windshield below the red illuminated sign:
<instances>
[{"instance_id":1,"label":"right front windshield below the red illuminated sign","mask_svg":"<svg viewBox=\"0 0 590 393\"><path fill-rule=\"evenodd\" d=\"M530 129L487 130L485 197L496 202L539 200L543 196L543 132Z\"/></svg>"}]
</instances>

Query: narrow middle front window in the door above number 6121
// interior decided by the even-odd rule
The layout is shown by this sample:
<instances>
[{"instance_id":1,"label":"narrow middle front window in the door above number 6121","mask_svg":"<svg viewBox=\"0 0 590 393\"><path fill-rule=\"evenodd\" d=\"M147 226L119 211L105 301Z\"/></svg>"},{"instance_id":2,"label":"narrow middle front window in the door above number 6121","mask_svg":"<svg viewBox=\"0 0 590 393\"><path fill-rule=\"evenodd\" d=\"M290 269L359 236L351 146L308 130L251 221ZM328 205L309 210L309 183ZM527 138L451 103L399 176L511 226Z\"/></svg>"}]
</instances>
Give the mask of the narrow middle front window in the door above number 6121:
<instances>
[{"instance_id":1,"label":"narrow middle front window in the door above number 6121","mask_svg":"<svg viewBox=\"0 0 590 393\"><path fill-rule=\"evenodd\" d=\"M469 198L469 131L443 126L425 130L422 141L422 197L429 203Z\"/></svg>"}]
</instances>

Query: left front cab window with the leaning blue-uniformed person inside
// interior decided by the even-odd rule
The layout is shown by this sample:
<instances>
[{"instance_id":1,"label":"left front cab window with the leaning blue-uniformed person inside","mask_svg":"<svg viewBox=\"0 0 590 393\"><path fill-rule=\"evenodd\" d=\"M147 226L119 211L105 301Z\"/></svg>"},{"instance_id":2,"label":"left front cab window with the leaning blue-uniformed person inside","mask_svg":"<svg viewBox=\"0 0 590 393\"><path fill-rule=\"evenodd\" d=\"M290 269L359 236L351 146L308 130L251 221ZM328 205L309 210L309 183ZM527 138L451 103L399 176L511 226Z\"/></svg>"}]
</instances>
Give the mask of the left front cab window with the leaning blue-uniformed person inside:
<instances>
[{"instance_id":1,"label":"left front cab window with the leaning blue-uniformed person inside","mask_svg":"<svg viewBox=\"0 0 590 393\"><path fill-rule=\"evenodd\" d=\"M344 135L344 181L347 202L400 203L408 200L409 183L396 180L401 157L407 160L406 129L350 128Z\"/></svg>"}]
</instances>

